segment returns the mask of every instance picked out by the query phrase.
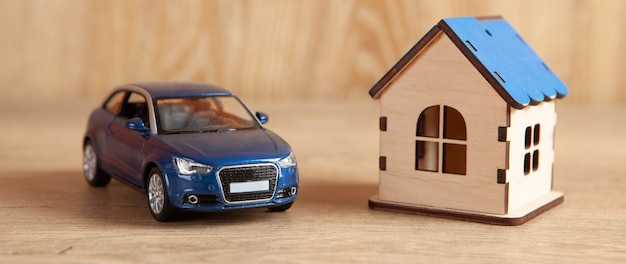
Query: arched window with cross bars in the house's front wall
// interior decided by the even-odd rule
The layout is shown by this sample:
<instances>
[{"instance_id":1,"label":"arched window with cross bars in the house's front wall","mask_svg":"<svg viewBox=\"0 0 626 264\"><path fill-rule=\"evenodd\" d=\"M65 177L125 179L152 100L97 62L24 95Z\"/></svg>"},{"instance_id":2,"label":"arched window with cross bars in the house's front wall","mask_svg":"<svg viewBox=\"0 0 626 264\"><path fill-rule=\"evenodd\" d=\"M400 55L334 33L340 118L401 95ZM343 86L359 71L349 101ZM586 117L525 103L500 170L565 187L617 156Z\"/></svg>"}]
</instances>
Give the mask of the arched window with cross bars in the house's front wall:
<instances>
[{"instance_id":1,"label":"arched window with cross bars in the house's front wall","mask_svg":"<svg viewBox=\"0 0 626 264\"><path fill-rule=\"evenodd\" d=\"M415 169L465 175L465 120L456 109L444 105L442 113L441 108L439 105L430 106L422 111L417 120Z\"/></svg>"}]
</instances>

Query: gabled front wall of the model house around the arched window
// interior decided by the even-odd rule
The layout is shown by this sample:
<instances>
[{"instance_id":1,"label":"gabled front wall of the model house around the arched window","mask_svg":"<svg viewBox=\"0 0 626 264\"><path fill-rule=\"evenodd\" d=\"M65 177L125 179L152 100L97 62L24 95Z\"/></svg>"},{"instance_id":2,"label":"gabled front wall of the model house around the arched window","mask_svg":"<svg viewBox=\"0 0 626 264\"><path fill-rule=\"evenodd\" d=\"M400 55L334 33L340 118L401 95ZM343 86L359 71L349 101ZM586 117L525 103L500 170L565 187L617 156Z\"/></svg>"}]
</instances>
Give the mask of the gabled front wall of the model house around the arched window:
<instances>
[{"instance_id":1,"label":"gabled front wall of the model house around the arched window","mask_svg":"<svg viewBox=\"0 0 626 264\"><path fill-rule=\"evenodd\" d=\"M380 154L387 157L387 170L380 171L381 200L507 213L506 186L496 181L496 168L505 168L507 160L506 144L496 140L498 127L506 125L507 105L445 34L435 36L378 101L388 121L387 131L380 133ZM431 116L439 120L434 138L416 137L421 113L433 105L441 113ZM466 140L443 139L444 106L462 114ZM415 169L416 140L433 143L424 151L436 153L430 171ZM442 142L466 147L465 175L443 173Z\"/></svg>"}]
</instances>

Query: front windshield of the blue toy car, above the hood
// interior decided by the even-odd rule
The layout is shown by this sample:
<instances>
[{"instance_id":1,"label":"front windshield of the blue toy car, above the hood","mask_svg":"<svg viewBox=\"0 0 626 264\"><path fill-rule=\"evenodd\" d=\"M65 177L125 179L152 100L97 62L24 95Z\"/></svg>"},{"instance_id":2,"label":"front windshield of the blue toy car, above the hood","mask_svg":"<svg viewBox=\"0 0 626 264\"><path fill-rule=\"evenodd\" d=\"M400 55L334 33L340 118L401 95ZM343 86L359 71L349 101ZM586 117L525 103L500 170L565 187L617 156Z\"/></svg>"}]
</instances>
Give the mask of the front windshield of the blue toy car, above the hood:
<instances>
[{"instance_id":1,"label":"front windshield of the blue toy car, above the hood","mask_svg":"<svg viewBox=\"0 0 626 264\"><path fill-rule=\"evenodd\" d=\"M222 132L260 128L234 96L157 99L159 134Z\"/></svg>"}]
</instances>

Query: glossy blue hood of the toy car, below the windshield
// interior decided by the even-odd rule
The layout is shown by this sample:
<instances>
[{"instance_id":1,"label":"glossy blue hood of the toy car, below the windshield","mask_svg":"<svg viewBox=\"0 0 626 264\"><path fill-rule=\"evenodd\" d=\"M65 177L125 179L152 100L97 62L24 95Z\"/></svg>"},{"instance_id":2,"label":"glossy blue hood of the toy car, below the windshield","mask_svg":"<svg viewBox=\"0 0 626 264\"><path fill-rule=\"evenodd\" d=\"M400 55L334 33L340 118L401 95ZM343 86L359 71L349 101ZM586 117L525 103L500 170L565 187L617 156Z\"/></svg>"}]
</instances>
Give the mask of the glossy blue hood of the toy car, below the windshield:
<instances>
[{"instance_id":1,"label":"glossy blue hood of the toy car, below the windshield","mask_svg":"<svg viewBox=\"0 0 626 264\"><path fill-rule=\"evenodd\" d=\"M211 165L249 163L286 157L291 148L266 129L162 135L180 156Z\"/></svg>"}]
</instances>

